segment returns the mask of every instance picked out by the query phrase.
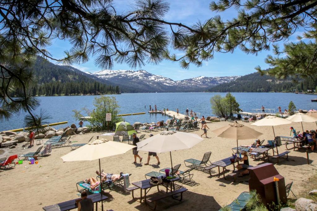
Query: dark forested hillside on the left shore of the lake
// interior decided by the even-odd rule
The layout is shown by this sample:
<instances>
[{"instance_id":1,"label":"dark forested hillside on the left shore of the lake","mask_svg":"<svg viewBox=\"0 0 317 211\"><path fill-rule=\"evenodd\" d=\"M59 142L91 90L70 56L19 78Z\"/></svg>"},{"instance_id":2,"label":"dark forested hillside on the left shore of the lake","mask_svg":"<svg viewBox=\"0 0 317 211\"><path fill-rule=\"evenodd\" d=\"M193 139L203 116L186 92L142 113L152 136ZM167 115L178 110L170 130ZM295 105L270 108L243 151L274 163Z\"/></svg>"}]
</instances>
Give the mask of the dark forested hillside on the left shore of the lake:
<instances>
[{"instance_id":1,"label":"dark forested hillside on the left shore of the lake","mask_svg":"<svg viewBox=\"0 0 317 211\"><path fill-rule=\"evenodd\" d=\"M119 94L117 85L90 76L69 66L50 63L38 57L32 67L34 84L29 87L33 96Z\"/></svg>"}]
</instances>

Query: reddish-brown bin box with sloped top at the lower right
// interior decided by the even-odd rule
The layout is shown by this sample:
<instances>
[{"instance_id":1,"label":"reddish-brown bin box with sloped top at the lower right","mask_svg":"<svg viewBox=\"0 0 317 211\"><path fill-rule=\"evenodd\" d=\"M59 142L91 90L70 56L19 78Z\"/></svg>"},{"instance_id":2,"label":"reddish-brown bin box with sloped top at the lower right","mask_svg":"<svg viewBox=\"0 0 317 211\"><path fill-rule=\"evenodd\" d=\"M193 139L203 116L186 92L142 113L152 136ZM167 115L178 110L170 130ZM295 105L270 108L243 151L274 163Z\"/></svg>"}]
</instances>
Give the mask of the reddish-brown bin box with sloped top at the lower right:
<instances>
[{"instance_id":1,"label":"reddish-brown bin box with sloped top at the lower right","mask_svg":"<svg viewBox=\"0 0 317 211\"><path fill-rule=\"evenodd\" d=\"M287 203L285 179L275 169L273 164L265 163L248 168L250 173L249 189L256 190L262 202L268 206L274 202L277 204L277 194L275 189L274 177L278 178L278 189L281 203Z\"/></svg>"}]
</instances>

